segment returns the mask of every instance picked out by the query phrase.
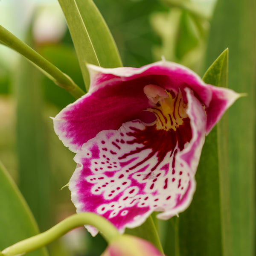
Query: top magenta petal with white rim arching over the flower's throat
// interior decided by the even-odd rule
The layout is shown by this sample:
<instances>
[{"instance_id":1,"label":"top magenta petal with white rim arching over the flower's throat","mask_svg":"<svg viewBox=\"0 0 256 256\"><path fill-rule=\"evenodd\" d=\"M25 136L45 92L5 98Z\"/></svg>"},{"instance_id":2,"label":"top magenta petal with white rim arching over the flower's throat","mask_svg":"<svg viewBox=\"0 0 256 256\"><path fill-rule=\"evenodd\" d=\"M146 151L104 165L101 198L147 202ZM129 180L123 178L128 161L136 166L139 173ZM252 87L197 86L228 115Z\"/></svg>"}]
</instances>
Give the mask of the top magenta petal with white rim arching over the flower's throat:
<instances>
[{"instance_id":1,"label":"top magenta petal with white rim arching over the flower's throat","mask_svg":"<svg viewBox=\"0 0 256 256\"><path fill-rule=\"evenodd\" d=\"M209 105L212 98L211 90L200 76L189 68L174 62L163 60L140 68L118 67L105 69L94 65L88 65L88 67L92 79L90 84L92 90L101 87L101 84L108 81L109 78L113 80L114 78L121 78L122 81L150 78L154 82L148 82L148 84L156 84L169 90L190 87L206 106Z\"/></svg>"}]
</instances>

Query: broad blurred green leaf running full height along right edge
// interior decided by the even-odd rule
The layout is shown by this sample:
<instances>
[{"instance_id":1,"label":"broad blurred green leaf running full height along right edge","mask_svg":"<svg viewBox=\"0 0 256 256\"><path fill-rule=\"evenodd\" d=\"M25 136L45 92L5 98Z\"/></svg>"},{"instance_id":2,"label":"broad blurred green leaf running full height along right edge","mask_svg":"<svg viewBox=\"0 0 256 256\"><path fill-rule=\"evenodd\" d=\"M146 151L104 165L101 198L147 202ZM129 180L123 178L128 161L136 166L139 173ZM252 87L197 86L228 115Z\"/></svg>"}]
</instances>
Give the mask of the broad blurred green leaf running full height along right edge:
<instances>
[{"instance_id":1,"label":"broad blurred green leaf running full height along right edge","mask_svg":"<svg viewBox=\"0 0 256 256\"><path fill-rule=\"evenodd\" d=\"M229 117L229 180L232 256L255 250L256 2L218 1L209 34L206 64L229 48L229 87L248 96Z\"/></svg>"}]
</instances>

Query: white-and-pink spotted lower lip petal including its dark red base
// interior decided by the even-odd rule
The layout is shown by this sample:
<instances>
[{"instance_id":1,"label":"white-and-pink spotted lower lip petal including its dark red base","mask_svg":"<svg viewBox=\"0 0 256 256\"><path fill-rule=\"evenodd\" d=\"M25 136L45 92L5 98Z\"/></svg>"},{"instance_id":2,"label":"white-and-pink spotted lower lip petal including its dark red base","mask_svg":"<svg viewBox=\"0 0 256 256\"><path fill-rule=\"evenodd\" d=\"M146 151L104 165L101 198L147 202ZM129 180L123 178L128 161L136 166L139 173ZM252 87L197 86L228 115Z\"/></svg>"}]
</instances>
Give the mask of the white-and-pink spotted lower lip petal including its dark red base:
<instances>
[{"instance_id":1,"label":"white-and-pink spotted lower lip petal including its dark red base","mask_svg":"<svg viewBox=\"0 0 256 256\"><path fill-rule=\"evenodd\" d=\"M134 120L118 130L100 131L82 145L69 185L77 212L102 215L122 233L154 211L162 211L158 217L167 219L189 206L206 115L192 91L185 90L189 118L177 131Z\"/></svg>"}]
</instances>

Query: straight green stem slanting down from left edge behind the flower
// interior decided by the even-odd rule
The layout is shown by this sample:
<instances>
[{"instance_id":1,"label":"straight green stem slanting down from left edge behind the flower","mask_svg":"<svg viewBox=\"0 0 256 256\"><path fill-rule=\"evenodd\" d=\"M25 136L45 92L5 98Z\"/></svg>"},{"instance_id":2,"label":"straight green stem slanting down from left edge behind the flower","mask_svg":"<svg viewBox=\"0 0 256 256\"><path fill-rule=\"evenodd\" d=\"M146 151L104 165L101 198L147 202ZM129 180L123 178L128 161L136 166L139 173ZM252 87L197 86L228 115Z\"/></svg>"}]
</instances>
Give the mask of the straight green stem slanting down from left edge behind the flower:
<instances>
[{"instance_id":1,"label":"straight green stem slanting down from left edge behind the flower","mask_svg":"<svg viewBox=\"0 0 256 256\"><path fill-rule=\"evenodd\" d=\"M33 50L7 29L0 25L0 42L16 52L19 52L21 55L26 57L31 61L35 66L37 66L45 75L49 77L52 81L55 82L58 86L67 90L71 95L76 99L84 95L84 91L81 90L79 86L66 74L61 72L57 67L52 63L47 61L42 57L38 52Z\"/></svg>"}]
</instances>

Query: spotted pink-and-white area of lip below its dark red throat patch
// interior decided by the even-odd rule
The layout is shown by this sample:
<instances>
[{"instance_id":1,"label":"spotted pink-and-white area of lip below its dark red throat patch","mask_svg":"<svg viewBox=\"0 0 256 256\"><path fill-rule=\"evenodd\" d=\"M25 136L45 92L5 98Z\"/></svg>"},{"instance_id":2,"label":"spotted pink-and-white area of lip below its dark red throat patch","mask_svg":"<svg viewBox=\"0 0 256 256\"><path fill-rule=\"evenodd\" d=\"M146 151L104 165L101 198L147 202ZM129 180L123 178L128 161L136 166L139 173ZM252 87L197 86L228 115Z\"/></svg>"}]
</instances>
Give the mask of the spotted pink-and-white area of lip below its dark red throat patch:
<instances>
[{"instance_id":1,"label":"spotted pink-and-white area of lip below its dark red throat patch","mask_svg":"<svg viewBox=\"0 0 256 256\"><path fill-rule=\"evenodd\" d=\"M73 200L79 201L81 211L103 215L122 231L124 223L133 227L152 211L174 208L190 185L184 164L175 160L177 145L158 162L161 148L133 142L133 134L146 129L133 121L117 132L102 131L75 157L83 167L76 169L79 183L76 175L70 180L71 191L74 180L79 195Z\"/></svg>"}]
</instances>

